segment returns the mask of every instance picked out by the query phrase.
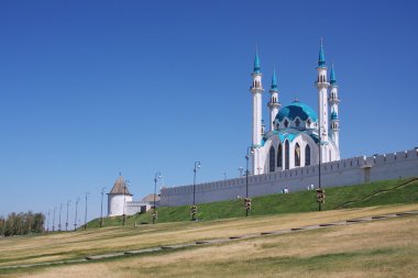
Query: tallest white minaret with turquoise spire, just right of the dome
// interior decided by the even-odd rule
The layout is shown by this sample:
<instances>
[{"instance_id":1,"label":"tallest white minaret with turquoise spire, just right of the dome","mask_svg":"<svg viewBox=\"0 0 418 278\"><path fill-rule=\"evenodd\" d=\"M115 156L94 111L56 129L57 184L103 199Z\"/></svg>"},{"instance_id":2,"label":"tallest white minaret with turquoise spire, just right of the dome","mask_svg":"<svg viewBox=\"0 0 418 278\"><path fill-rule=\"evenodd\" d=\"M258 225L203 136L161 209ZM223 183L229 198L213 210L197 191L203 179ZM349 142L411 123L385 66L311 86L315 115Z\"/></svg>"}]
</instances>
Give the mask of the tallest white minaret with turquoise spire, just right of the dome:
<instances>
[{"instance_id":1,"label":"tallest white minaret with turquoise spire, just right of the dome","mask_svg":"<svg viewBox=\"0 0 418 278\"><path fill-rule=\"evenodd\" d=\"M321 46L319 48L318 58L318 79L315 82L318 88L318 131L322 143L328 142L328 87L330 84L327 81L327 65L323 55L323 44L321 38ZM322 152L324 154L324 148ZM327 162L327 157L322 154L322 162Z\"/></svg>"}]
</instances>

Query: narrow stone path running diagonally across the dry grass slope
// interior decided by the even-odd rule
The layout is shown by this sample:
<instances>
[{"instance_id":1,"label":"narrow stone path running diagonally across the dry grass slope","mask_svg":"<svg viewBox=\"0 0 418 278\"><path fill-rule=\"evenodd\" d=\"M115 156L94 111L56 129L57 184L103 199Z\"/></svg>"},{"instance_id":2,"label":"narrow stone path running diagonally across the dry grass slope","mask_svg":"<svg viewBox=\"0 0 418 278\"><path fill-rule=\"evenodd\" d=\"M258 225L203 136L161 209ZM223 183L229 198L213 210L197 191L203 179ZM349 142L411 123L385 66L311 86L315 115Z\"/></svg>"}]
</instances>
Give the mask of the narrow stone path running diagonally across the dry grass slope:
<instances>
[{"instance_id":1,"label":"narrow stone path running diagonally across the dry grass slope","mask_svg":"<svg viewBox=\"0 0 418 278\"><path fill-rule=\"evenodd\" d=\"M220 243L227 243L227 242L232 242L232 241L246 240L246 238L255 238L255 237L270 236L270 235L299 233L299 232L302 232L302 231L323 229L323 227L328 227L328 226L351 225L351 224L356 224L356 223L364 223L364 222L378 221L378 220L384 220L384 219L389 219L389 218L399 218L399 216L407 216L407 215L418 215L418 211L405 211L405 212L398 212L398 213L391 213L391 214L383 214L383 215L375 215L375 216L366 216L366 218L361 218L361 219L350 219L350 220L331 222L331 223L321 223L321 224L317 224L317 225L300 226L300 227L293 227L293 229L284 229L284 230L278 230L278 231L267 231L267 232L261 232L261 233L256 233L256 234L237 235L237 236L230 236L230 237L227 237L227 238L215 238L215 240L207 240L207 241L196 241L196 242L191 242L191 243L175 244L175 245L164 245L164 246L152 247L152 248L136 249L136 251L109 253L109 254L102 254L102 255L92 255L92 256L86 256L85 258L80 258L80 259L68 259L68 260L50 262L50 263L14 265L14 266L2 266L2 267L0 267L0 269L26 268L26 267L34 267L34 266L54 266L54 265L76 264L76 263L84 263L84 262L88 262L88 260L99 260L99 259L106 259L106 258L122 257L122 256L125 256L125 255L146 254L146 253L154 253L154 252L163 252L163 251L166 251L166 249L179 249L179 248L186 248L186 247L193 247L193 246L220 244Z\"/></svg>"}]
</instances>

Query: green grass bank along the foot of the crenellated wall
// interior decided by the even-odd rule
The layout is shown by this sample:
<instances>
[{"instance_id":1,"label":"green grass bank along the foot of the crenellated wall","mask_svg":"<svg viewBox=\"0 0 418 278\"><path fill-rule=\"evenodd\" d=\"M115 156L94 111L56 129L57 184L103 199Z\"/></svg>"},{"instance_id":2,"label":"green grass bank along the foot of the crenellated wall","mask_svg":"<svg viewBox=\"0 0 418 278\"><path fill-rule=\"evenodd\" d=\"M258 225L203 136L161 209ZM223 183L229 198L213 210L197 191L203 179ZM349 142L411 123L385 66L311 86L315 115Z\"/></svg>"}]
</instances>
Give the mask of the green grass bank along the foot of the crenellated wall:
<instances>
[{"instance_id":1,"label":"green grass bank along the foot of the crenellated wall","mask_svg":"<svg viewBox=\"0 0 418 278\"><path fill-rule=\"evenodd\" d=\"M326 188L326 203L322 210L362 208L394 203L418 202L418 178L375 181L346 187ZM252 199L251 215L317 211L316 191L300 191L287 194L270 194ZM198 205L198 219L243 218L243 200L230 200ZM189 205L158 208L158 223L190 220ZM152 223L152 213L127 218L127 225ZM106 218L105 226L122 225L122 218ZM98 227L99 219L89 222L88 227Z\"/></svg>"}]
</instances>

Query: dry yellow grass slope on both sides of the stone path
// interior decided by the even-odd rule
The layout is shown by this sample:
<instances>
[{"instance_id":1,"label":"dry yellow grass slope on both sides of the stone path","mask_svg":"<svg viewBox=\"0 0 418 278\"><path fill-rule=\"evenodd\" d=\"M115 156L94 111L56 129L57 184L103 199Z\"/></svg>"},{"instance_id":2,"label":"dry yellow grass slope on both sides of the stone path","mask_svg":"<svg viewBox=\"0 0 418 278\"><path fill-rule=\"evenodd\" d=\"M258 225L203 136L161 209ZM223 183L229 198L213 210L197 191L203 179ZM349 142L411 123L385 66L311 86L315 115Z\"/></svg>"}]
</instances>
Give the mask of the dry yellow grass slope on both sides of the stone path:
<instances>
[{"instance_id":1,"label":"dry yellow grass slope on both sides of the stone path","mask_svg":"<svg viewBox=\"0 0 418 278\"><path fill-rule=\"evenodd\" d=\"M102 254L417 209L418 204L391 205L10 238L0 241L0 262L11 265L55 260L95 251ZM417 231L418 218L407 216L18 274L34 277L234 277L235 274L239 277L312 277L320 276L317 266L328 262L323 267L331 277L393 277L397 271L405 277L418 270L417 264L408 260L409 256L418 257Z\"/></svg>"}]
</instances>

